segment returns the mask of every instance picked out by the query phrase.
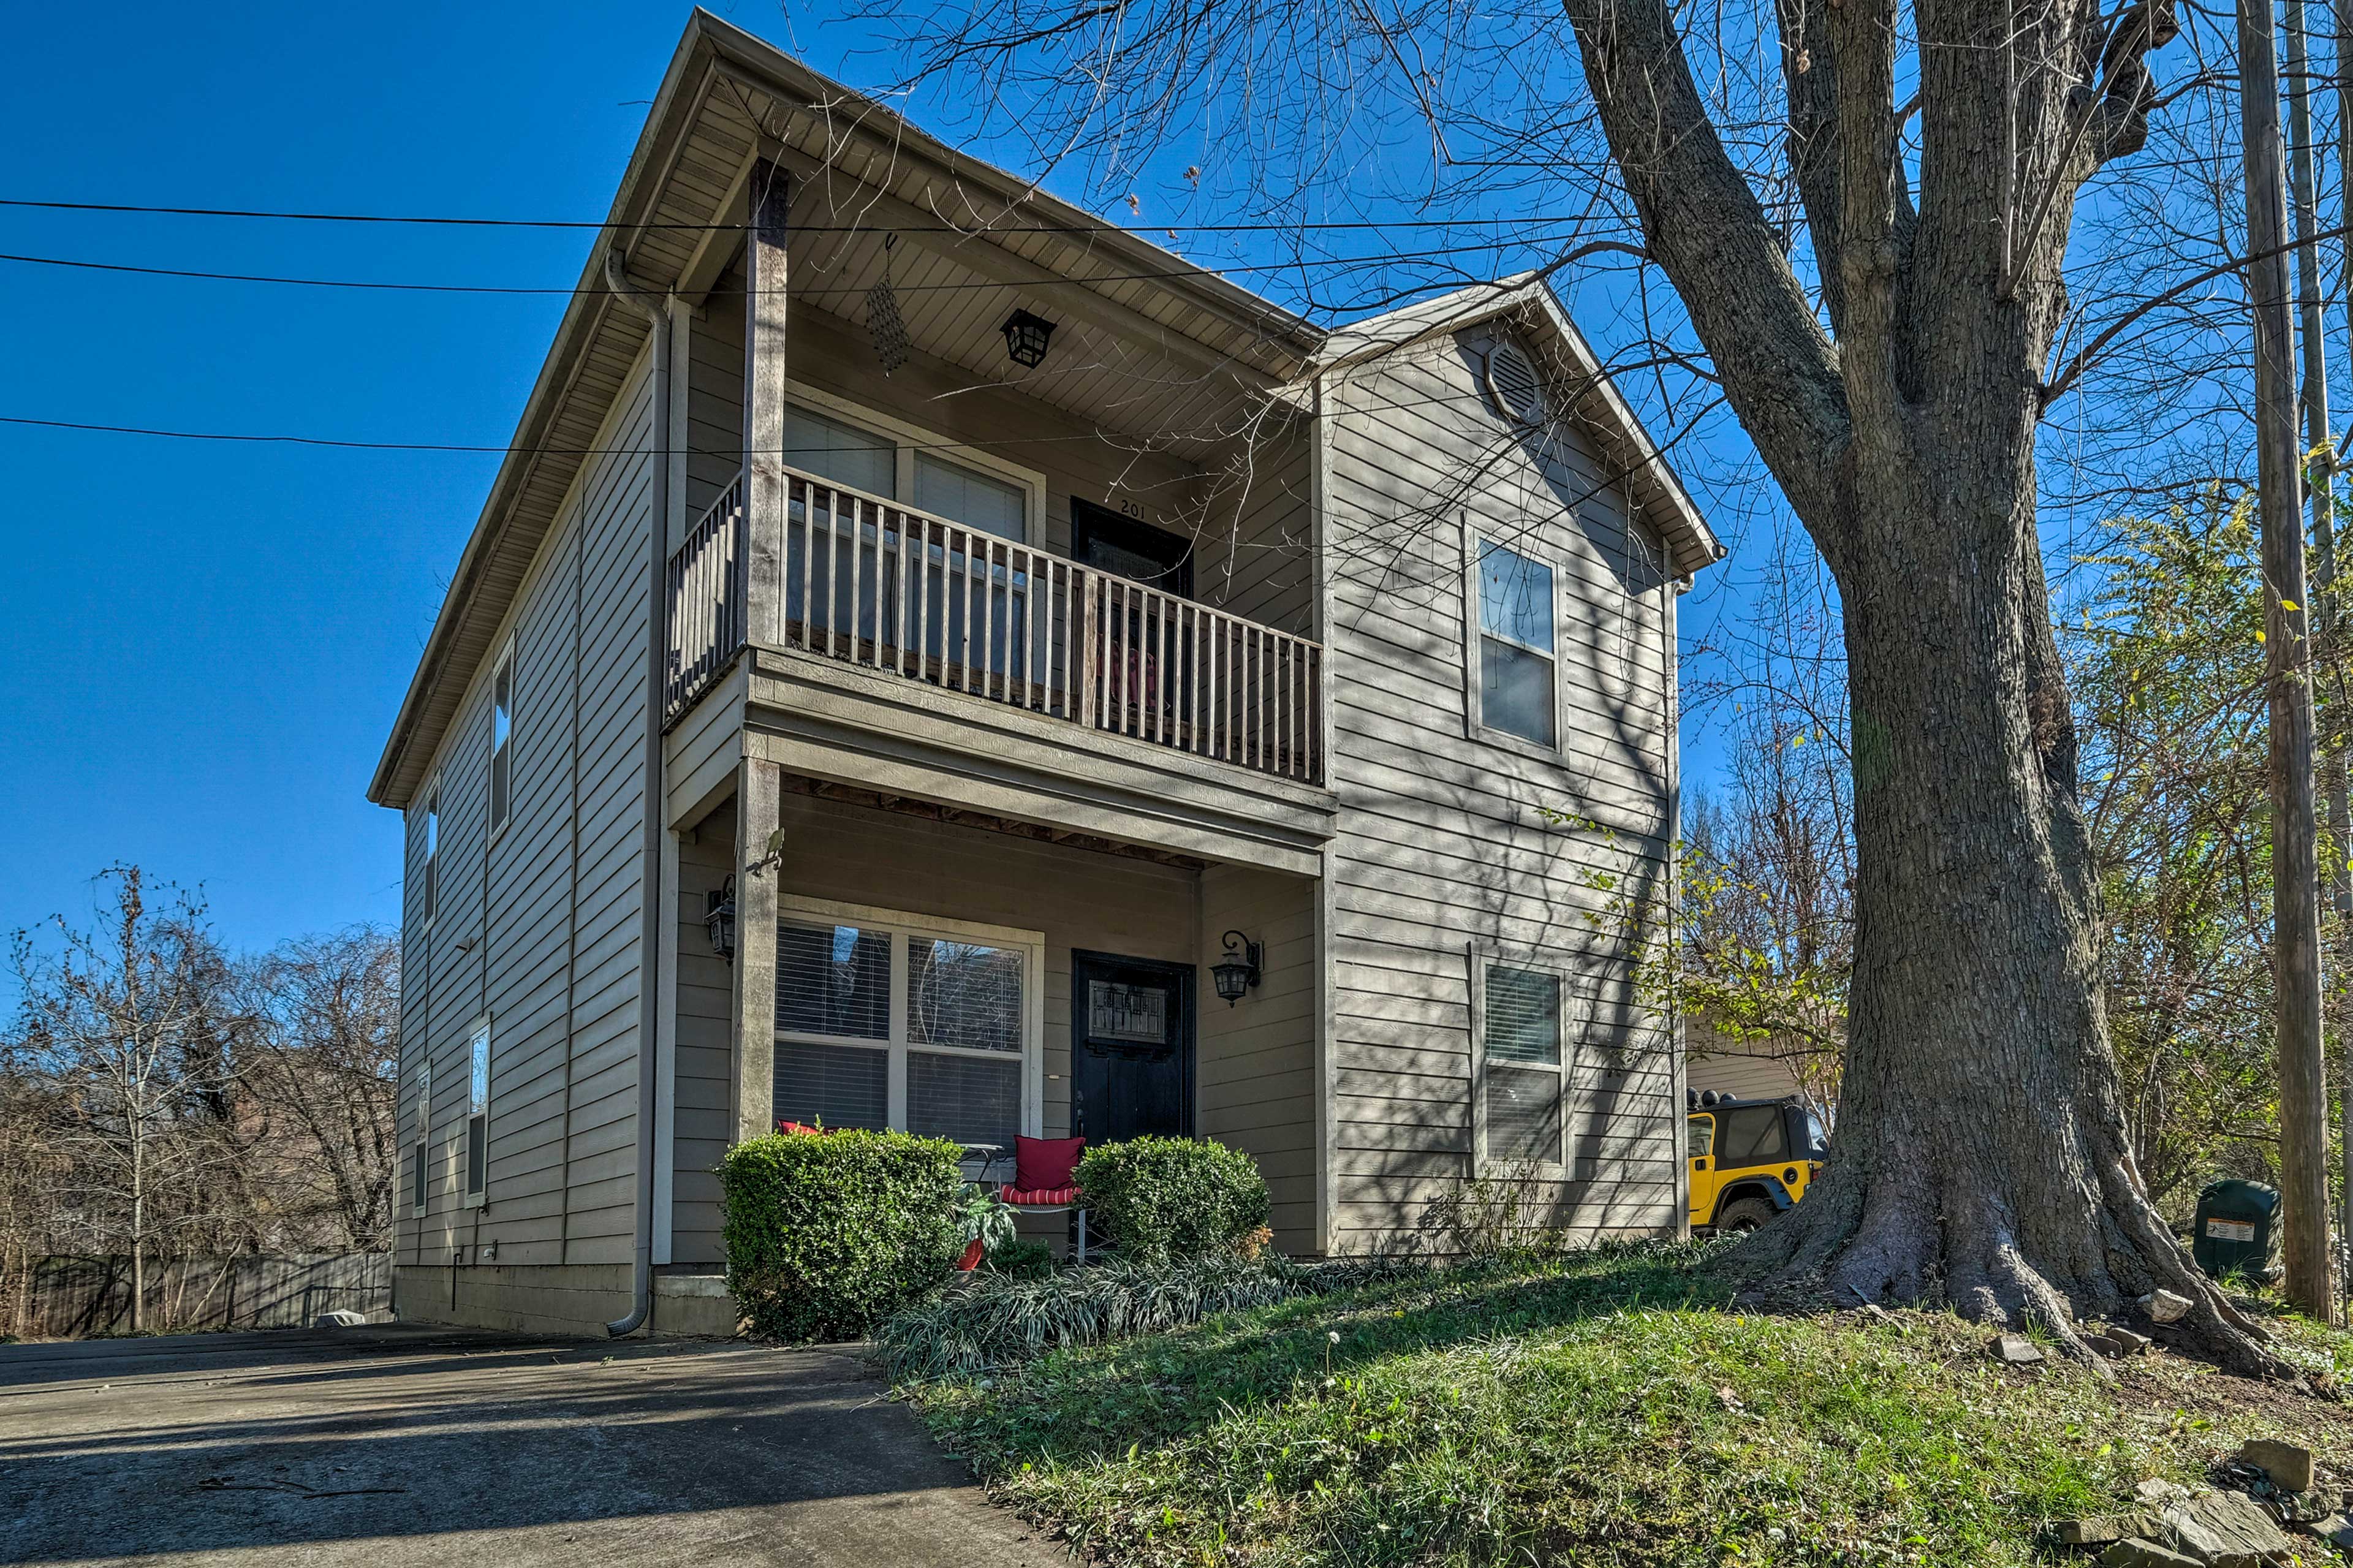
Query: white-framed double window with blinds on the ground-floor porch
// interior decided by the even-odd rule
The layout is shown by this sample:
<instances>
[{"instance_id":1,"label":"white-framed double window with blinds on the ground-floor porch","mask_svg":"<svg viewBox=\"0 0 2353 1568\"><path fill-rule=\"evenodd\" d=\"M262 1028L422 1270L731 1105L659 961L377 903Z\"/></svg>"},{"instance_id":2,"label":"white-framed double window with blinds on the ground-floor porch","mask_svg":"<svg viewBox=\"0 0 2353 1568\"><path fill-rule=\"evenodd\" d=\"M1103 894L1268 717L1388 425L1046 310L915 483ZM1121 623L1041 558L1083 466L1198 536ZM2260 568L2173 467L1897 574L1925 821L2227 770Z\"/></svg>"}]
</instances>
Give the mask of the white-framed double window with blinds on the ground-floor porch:
<instances>
[{"instance_id":1,"label":"white-framed double window with blinds on the ground-floor porch","mask_svg":"<svg viewBox=\"0 0 2353 1568\"><path fill-rule=\"evenodd\" d=\"M960 1144L1035 1130L1042 949L866 911L776 923L776 1121Z\"/></svg>"}]
</instances>

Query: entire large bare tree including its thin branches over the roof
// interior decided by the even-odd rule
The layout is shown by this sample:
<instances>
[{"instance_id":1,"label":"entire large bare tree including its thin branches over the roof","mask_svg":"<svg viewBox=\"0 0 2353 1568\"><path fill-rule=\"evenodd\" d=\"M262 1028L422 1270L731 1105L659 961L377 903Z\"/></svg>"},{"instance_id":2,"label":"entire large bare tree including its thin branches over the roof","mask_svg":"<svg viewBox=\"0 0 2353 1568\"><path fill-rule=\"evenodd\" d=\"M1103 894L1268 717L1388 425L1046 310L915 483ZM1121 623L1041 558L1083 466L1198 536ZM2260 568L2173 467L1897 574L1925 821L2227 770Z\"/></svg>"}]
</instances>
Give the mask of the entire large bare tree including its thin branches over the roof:
<instances>
[{"instance_id":1,"label":"entire large bare tree including its thin branches over the roof","mask_svg":"<svg viewBox=\"0 0 2353 1568\"><path fill-rule=\"evenodd\" d=\"M1847 652L1857 961L1838 1151L1744 1262L1774 1293L2038 1321L2080 1356L2080 1316L2162 1285L2195 1302L2188 1330L2224 1363L2289 1375L2188 1264L2134 1165L2038 532L2047 412L2179 299L2169 287L2200 283L2134 280L2141 299L2120 301L2099 285L2132 259L2122 240L2068 275L2080 193L2148 144L2169 0L1713 16L1562 0L1553 16L1567 40L1537 7L1497 21L1315 0L1002 0L906 26L918 78L953 68L1045 162L1101 177L1209 141L1214 122L1228 162L1257 158L1228 188L1271 205L1398 162L1395 139L1372 155L1353 129L1386 99L1428 127L1433 200L1468 177L1487 212L1567 217L1562 254L1628 235L1640 278L1680 299L1694 374L1835 577ZM1457 87L1473 42L1478 101ZM1287 191L1264 177L1273 160ZM2111 318L2078 332L2085 297Z\"/></svg>"}]
</instances>

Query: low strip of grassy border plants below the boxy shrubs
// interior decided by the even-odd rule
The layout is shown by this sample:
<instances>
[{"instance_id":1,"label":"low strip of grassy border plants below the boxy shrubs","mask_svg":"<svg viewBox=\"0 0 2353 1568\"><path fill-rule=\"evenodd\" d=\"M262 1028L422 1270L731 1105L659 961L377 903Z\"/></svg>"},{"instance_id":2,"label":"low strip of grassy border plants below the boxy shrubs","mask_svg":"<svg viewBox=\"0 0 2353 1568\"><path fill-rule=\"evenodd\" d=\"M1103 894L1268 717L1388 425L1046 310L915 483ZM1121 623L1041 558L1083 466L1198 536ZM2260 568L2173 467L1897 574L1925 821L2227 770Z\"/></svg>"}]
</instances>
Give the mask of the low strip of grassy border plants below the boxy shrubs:
<instances>
[{"instance_id":1,"label":"low strip of grassy border plants below the boxy shrubs","mask_svg":"<svg viewBox=\"0 0 2353 1568\"><path fill-rule=\"evenodd\" d=\"M875 1330L894 1377L955 1377L1071 1344L1186 1328L1221 1311L1271 1307L1412 1271L1402 1260L1297 1264L1287 1257L1106 1262L1045 1276L984 1274L899 1311Z\"/></svg>"}]
</instances>

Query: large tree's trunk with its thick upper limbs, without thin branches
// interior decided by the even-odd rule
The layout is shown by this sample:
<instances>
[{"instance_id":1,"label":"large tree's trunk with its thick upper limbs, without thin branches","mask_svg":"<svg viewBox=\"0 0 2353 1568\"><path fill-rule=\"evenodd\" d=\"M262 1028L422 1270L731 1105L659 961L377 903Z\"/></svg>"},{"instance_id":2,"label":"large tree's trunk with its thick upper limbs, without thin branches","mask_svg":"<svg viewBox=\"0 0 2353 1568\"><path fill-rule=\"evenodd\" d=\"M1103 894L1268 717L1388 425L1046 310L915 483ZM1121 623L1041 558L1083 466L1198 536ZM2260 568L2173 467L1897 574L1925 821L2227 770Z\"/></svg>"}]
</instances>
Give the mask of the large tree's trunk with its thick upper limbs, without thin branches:
<instances>
[{"instance_id":1,"label":"large tree's trunk with its thick upper limbs, without thin branches","mask_svg":"<svg viewBox=\"0 0 2353 1568\"><path fill-rule=\"evenodd\" d=\"M1784 0L1817 306L1666 2L1565 0L1645 250L1845 603L1859 930L1838 1137L1741 1262L1765 1293L1941 1300L2080 1356L2078 1318L2167 1288L2219 1361L2285 1373L2132 1165L2035 537L2068 217L2146 137L2165 2L2108 21L2097 0L1913 0L1915 205L1897 0Z\"/></svg>"}]
</instances>

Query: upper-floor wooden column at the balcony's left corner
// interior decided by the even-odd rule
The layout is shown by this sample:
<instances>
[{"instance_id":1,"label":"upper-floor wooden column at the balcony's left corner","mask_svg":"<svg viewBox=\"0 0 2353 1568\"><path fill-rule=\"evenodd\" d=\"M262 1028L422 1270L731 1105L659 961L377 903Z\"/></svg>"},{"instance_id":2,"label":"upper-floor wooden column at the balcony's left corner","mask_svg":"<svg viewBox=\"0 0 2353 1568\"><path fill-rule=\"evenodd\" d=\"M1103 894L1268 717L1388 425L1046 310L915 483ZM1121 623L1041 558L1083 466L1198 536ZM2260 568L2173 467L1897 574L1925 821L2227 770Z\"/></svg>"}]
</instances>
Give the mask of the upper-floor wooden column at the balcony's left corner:
<instances>
[{"instance_id":1,"label":"upper-floor wooden column at the balcony's left corner","mask_svg":"<svg viewBox=\"0 0 2353 1568\"><path fill-rule=\"evenodd\" d=\"M744 245L744 633L784 647L784 240L786 172L751 170Z\"/></svg>"}]
</instances>

